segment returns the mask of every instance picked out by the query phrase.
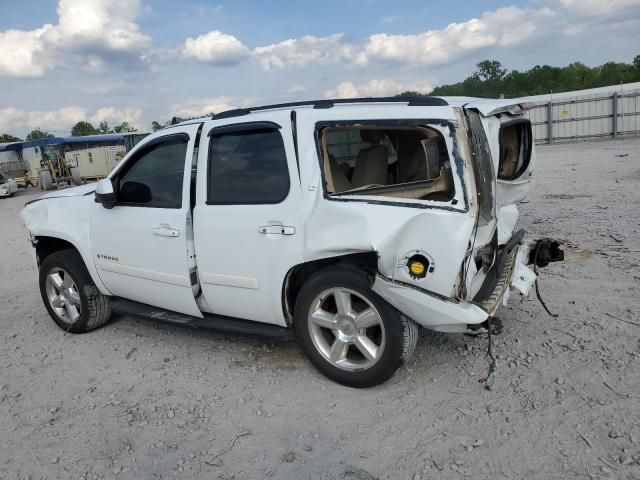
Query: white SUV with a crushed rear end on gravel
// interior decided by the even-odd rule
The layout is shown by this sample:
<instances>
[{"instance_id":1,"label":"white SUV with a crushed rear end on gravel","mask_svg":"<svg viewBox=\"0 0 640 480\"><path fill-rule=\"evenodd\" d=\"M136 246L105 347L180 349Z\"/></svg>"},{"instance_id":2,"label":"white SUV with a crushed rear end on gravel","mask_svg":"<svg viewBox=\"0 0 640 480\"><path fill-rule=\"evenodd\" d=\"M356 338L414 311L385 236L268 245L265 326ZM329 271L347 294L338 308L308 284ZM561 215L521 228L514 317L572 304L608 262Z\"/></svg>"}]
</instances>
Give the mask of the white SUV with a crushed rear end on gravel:
<instances>
[{"instance_id":1,"label":"white SUV with a crushed rear end on gravel","mask_svg":"<svg viewBox=\"0 0 640 480\"><path fill-rule=\"evenodd\" d=\"M63 329L112 311L295 333L354 387L407 361L420 326L478 331L526 264L534 148L513 100L323 100L233 110L140 142L96 185L22 211L42 299ZM510 288L511 287L511 288Z\"/></svg>"}]
</instances>

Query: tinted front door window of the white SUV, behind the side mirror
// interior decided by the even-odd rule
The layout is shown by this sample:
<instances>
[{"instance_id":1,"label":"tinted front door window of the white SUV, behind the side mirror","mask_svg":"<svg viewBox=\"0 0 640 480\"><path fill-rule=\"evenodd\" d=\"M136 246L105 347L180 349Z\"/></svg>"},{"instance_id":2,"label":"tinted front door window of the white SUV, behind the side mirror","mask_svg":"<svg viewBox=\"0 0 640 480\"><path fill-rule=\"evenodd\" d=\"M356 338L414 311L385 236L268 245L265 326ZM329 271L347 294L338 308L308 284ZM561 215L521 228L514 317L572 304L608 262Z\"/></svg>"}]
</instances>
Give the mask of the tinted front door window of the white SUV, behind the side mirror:
<instances>
[{"instance_id":1,"label":"tinted front door window of the white SUV, behind the side mirror","mask_svg":"<svg viewBox=\"0 0 640 480\"><path fill-rule=\"evenodd\" d=\"M144 148L118 175L118 205L181 208L188 139Z\"/></svg>"}]
</instances>

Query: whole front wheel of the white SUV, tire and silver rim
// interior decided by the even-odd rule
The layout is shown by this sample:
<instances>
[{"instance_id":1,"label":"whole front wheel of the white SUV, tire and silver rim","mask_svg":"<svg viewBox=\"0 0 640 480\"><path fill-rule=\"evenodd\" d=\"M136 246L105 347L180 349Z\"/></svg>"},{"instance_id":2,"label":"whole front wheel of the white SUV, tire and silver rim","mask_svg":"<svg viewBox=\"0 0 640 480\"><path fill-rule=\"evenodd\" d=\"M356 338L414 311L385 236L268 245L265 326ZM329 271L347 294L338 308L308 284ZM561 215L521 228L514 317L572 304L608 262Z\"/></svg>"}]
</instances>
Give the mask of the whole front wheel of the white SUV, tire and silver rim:
<instances>
[{"instance_id":1,"label":"whole front wheel of the white SUV, tire and silver rim","mask_svg":"<svg viewBox=\"0 0 640 480\"><path fill-rule=\"evenodd\" d=\"M88 332L111 316L109 299L95 286L75 250L54 252L44 259L40 293L53 321L68 332Z\"/></svg>"}]
</instances>

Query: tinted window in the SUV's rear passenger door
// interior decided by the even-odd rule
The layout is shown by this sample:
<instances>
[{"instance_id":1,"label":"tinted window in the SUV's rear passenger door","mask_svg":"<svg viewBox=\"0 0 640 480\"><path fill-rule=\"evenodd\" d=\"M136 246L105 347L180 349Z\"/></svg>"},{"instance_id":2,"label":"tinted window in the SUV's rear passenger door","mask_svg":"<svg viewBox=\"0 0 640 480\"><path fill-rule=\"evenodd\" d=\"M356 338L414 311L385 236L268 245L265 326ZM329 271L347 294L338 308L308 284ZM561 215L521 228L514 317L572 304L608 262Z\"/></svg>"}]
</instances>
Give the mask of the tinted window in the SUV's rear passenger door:
<instances>
[{"instance_id":1,"label":"tinted window in the SUV's rear passenger door","mask_svg":"<svg viewBox=\"0 0 640 480\"><path fill-rule=\"evenodd\" d=\"M289 193L289 168L280 132L213 134L207 204L275 204Z\"/></svg>"}]
</instances>

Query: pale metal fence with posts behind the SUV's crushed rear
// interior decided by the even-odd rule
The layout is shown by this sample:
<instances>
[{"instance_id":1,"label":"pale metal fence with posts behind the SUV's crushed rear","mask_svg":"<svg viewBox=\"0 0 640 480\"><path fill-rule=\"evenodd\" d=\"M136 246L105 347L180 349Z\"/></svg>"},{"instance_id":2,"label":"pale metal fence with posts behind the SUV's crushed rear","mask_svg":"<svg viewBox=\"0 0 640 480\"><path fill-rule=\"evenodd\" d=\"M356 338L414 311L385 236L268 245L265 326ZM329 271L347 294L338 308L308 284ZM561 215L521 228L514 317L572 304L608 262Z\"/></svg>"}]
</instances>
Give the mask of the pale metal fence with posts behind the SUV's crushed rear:
<instances>
[{"instance_id":1,"label":"pale metal fence with posts behind the SUV's crushed rear","mask_svg":"<svg viewBox=\"0 0 640 480\"><path fill-rule=\"evenodd\" d=\"M537 143L640 135L640 89L569 95L527 99L536 104L527 116Z\"/></svg>"}]
</instances>

